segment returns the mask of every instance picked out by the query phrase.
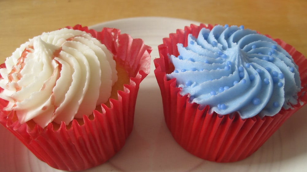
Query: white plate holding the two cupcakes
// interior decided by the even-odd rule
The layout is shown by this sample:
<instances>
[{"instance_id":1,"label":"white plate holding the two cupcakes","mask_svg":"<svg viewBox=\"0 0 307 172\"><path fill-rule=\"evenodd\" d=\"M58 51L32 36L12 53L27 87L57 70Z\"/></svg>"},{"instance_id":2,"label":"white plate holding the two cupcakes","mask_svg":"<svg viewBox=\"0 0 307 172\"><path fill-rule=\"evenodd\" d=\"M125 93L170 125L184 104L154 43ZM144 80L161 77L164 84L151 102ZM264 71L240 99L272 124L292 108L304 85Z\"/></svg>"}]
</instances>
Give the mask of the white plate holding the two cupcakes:
<instances>
[{"instance_id":1,"label":"white plate holding the two cupcakes","mask_svg":"<svg viewBox=\"0 0 307 172\"><path fill-rule=\"evenodd\" d=\"M133 38L142 38L153 47L152 60L158 57L157 46L163 37L196 21L165 17L138 17L94 25L121 29ZM307 106L288 119L280 129L253 155L239 162L216 163L199 159L182 149L167 129L160 90L151 73L141 83L135 111L134 128L122 150L108 162L85 170L96 171L218 171L218 172L301 172L307 171ZM0 127L0 171L61 171L38 160L19 140Z\"/></svg>"}]
</instances>

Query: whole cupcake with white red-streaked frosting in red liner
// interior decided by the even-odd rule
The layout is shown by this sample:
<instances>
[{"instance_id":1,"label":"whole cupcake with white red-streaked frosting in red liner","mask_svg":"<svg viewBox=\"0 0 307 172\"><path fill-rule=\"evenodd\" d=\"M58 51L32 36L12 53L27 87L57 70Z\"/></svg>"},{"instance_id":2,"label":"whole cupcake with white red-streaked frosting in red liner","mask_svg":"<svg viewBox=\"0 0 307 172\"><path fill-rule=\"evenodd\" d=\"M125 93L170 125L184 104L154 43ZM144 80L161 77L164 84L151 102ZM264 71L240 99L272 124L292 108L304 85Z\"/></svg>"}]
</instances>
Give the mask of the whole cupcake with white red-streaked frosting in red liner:
<instances>
[{"instance_id":1,"label":"whole cupcake with white red-streaked frosting in red liner","mask_svg":"<svg viewBox=\"0 0 307 172\"><path fill-rule=\"evenodd\" d=\"M1 65L0 123L54 168L102 164L132 131L151 50L112 28L36 36Z\"/></svg>"}]
</instances>

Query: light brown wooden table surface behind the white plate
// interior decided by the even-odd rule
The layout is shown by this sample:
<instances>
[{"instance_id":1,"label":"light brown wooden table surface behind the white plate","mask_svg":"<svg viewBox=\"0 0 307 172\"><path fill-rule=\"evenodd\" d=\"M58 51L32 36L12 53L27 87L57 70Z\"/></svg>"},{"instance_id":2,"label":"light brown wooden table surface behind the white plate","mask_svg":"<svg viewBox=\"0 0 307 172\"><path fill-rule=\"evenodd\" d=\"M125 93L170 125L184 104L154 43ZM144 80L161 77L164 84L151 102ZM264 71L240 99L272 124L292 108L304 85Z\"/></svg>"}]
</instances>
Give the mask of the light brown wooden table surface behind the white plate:
<instances>
[{"instance_id":1,"label":"light brown wooden table surface behind the white plate","mask_svg":"<svg viewBox=\"0 0 307 172\"><path fill-rule=\"evenodd\" d=\"M42 32L143 16L244 25L307 55L306 0L0 0L0 60Z\"/></svg>"}]
</instances>

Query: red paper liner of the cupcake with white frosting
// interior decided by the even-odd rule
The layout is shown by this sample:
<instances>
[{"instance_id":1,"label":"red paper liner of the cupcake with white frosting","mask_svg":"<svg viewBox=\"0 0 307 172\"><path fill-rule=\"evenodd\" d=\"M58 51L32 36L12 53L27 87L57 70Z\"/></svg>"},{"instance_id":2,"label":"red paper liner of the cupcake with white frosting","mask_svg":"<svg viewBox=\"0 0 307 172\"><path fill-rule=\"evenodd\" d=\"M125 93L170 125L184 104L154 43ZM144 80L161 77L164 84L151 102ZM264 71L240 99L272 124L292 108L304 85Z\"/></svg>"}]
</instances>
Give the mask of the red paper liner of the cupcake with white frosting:
<instances>
[{"instance_id":1,"label":"red paper liner of the cupcake with white frosting","mask_svg":"<svg viewBox=\"0 0 307 172\"><path fill-rule=\"evenodd\" d=\"M64 122L59 129L53 124L45 128L13 122L14 112L1 111L0 123L12 132L38 159L60 170L85 170L106 162L125 144L133 128L134 108L140 82L150 72L151 47L143 40L133 39L120 30L103 28L101 32L76 25L68 27L91 33L113 53L116 63L122 63L129 73L130 84L118 91L118 100L110 99L111 107L102 104L102 113L93 111L94 119L83 117L67 129ZM0 99L1 109L7 104Z\"/></svg>"}]
</instances>

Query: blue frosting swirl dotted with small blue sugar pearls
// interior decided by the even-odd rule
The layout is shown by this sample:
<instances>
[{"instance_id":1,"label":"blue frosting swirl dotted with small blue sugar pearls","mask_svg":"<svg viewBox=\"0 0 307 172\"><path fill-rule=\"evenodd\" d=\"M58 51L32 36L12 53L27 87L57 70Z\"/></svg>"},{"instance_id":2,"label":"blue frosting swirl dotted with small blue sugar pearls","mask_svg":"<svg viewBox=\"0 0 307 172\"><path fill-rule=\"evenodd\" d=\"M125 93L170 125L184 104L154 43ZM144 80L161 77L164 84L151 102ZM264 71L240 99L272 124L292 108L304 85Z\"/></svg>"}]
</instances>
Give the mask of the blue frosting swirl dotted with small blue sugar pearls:
<instances>
[{"instance_id":1,"label":"blue frosting swirl dotted with small blue sugar pearls","mask_svg":"<svg viewBox=\"0 0 307 172\"><path fill-rule=\"evenodd\" d=\"M221 115L238 112L242 119L274 116L297 104L301 90L298 67L291 55L271 38L243 26L203 28L188 46L177 44L170 55L181 95L210 105Z\"/></svg>"}]
</instances>

